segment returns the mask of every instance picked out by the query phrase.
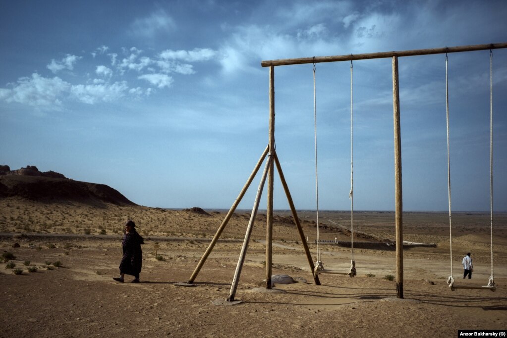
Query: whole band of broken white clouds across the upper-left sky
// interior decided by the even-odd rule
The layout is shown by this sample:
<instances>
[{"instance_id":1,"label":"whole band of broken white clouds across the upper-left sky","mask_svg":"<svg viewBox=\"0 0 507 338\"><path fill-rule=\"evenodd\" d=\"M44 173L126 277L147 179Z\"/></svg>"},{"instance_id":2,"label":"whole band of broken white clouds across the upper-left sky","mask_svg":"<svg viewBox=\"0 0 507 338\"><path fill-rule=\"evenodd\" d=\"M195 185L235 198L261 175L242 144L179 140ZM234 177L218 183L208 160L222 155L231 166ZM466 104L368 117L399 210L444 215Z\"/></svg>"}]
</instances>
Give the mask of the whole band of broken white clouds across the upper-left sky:
<instances>
[{"instance_id":1,"label":"whole band of broken white clouds across the upper-left sky","mask_svg":"<svg viewBox=\"0 0 507 338\"><path fill-rule=\"evenodd\" d=\"M65 101L93 105L114 102L125 97L138 100L151 95L155 89L170 88L174 78L169 74L195 74L196 70L191 63L212 60L217 54L212 49L195 48L190 51L165 50L155 52L152 56L142 56L142 50L132 47L122 49L121 54L125 57L119 60L118 53L106 54L107 51L108 47L101 46L88 54L92 56L89 59L93 60L94 68L87 73L86 83L75 83L77 79L83 77L68 76L65 80L61 77L45 77L36 72L31 77L20 77L17 82L9 83L6 88L0 88L0 100L29 105L41 110L61 110ZM99 58L100 55L110 57L112 67L103 64L93 65L94 62L103 61L103 58ZM52 59L47 68L53 73L65 69L74 70L74 66L81 59L83 57L67 54L61 60ZM135 77L129 75L129 72L135 72ZM90 78L90 73L97 77Z\"/></svg>"}]
</instances>

